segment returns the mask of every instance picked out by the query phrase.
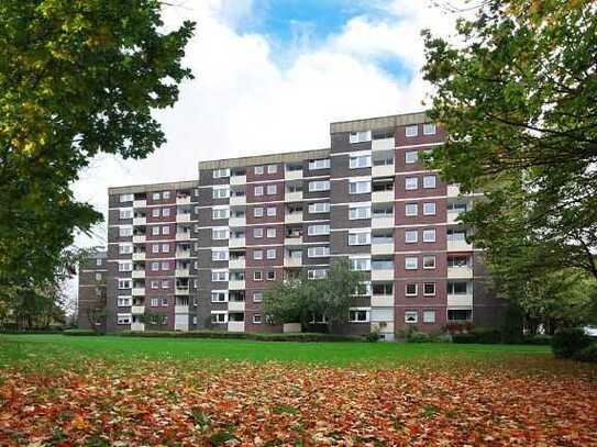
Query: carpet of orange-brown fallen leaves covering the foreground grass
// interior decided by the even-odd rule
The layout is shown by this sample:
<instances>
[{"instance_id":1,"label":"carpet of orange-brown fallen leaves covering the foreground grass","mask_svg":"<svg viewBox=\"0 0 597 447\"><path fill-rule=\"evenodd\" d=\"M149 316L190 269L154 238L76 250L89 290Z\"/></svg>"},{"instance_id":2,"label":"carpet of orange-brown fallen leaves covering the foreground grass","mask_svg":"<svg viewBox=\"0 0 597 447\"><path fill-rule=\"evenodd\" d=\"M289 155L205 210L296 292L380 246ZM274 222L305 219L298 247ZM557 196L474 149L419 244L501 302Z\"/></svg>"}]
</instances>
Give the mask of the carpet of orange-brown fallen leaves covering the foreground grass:
<instances>
[{"instance_id":1,"label":"carpet of orange-brown fallen leaves covering the foreground grass","mask_svg":"<svg viewBox=\"0 0 597 447\"><path fill-rule=\"evenodd\" d=\"M0 445L597 445L597 389L545 367L93 360L0 371Z\"/></svg>"}]
</instances>

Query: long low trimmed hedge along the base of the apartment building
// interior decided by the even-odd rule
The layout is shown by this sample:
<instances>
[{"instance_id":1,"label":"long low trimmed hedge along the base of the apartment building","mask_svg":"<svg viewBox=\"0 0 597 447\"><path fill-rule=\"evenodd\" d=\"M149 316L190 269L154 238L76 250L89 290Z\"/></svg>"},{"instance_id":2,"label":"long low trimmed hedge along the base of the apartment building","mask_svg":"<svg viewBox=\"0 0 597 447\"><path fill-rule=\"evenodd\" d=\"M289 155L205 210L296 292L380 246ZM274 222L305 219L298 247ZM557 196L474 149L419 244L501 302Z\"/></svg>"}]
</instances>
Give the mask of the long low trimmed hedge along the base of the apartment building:
<instances>
[{"instance_id":1,"label":"long low trimmed hedge along the base of the apartment building","mask_svg":"<svg viewBox=\"0 0 597 447\"><path fill-rule=\"evenodd\" d=\"M162 338L224 338L251 339L257 342L362 342L363 337L319 333L269 334L258 332L223 331L122 331L114 335L121 337Z\"/></svg>"}]
</instances>

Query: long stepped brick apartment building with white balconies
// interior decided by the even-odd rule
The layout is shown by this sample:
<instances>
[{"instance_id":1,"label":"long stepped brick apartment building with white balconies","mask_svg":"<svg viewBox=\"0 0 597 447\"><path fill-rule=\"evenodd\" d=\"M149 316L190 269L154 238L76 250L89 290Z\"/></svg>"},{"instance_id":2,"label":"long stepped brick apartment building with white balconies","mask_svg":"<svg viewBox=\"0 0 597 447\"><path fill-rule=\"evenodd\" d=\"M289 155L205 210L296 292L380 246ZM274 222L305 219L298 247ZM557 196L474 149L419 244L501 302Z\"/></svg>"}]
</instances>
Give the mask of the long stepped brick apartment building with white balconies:
<instances>
[{"instance_id":1,"label":"long stepped brick apartment building with white balconies","mask_svg":"<svg viewBox=\"0 0 597 447\"><path fill-rule=\"evenodd\" d=\"M332 123L330 137L325 149L201 161L197 181L111 188L108 331L281 332L265 290L301 270L322 278L342 257L365 277L344 333L498 322L482 253L457 223L477 198L420 160L442 127L411 113Z\"/></svg>"}]
</instances>

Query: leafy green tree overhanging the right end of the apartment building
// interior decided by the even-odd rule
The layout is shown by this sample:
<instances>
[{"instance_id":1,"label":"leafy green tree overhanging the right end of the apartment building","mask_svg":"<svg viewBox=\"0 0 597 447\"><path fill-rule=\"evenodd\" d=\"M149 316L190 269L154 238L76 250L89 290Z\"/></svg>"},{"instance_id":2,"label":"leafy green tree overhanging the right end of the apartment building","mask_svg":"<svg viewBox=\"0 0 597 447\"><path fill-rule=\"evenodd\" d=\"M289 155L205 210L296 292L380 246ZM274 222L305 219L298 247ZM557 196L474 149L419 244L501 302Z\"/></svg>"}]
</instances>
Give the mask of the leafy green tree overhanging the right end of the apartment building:
<instances>
[{"instance_id":1,"label":"leafy green tree overhanging the right end of the apartment building","mask_svg":"<svg viewBox=\"0 0 597 447\"><path fill-rule=\"evenodd\" d=\"M499 268L519 256L597 279L597 3L489 0L458 22L461 44L423 35L446 132L430 163L485 192L464 216L474 241Z\"/></svg>"}]
</instances>

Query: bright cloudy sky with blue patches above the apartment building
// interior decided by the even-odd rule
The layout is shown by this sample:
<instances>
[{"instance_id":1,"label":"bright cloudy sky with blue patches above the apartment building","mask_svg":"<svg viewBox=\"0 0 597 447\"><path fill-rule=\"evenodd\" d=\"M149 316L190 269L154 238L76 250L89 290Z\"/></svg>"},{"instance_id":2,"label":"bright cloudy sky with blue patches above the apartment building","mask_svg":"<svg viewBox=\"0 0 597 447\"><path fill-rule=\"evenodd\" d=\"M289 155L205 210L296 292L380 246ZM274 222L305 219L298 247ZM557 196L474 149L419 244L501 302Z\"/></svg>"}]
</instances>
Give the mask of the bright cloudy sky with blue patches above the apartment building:
<instances>
[{"instance_id":1,"label":"bright cloudy sky with blue patches above the apartment building","mask_svg":"<svg viewBox=\"0 0 597 447\"><path fill-rule=\"evenodd\" d=\"M195 79L155 113L159 149L143 160L101 155L80 174L76 198L104 215L108 187L196 179L200 160L329 147L331 122L423 110L420 32L449 36L456 21L433 0L168 3L165 29L197 22L184 59ZM104 224L76 245L106 243Z\"/></svg>"}]
</instances>

